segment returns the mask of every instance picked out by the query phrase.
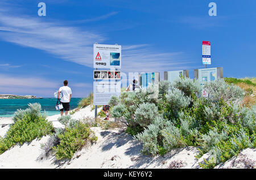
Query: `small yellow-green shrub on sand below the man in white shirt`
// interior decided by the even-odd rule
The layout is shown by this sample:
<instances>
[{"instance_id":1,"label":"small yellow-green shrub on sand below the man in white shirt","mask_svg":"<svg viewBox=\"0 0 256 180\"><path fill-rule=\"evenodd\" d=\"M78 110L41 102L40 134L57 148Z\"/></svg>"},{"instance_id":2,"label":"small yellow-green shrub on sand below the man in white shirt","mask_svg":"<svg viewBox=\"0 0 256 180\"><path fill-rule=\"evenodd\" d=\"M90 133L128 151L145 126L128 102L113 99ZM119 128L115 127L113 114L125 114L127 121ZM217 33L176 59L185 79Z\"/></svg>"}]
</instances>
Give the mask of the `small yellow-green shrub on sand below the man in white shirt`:
<instances>
[{"instance_id":1,"label":"small yellow-green shrub on sand below the man in white shirt","mask_svg":"<svg viewBox=\"0 0 256 180\"><path fill-rule=\"evenodd\" d=\"M84 123L78 122L75 127L65 127L59 134L60 144L53 147L57 160L72 158L74 153L88 142L95 142L97 137Z\"/></svg>"}]
</instances>

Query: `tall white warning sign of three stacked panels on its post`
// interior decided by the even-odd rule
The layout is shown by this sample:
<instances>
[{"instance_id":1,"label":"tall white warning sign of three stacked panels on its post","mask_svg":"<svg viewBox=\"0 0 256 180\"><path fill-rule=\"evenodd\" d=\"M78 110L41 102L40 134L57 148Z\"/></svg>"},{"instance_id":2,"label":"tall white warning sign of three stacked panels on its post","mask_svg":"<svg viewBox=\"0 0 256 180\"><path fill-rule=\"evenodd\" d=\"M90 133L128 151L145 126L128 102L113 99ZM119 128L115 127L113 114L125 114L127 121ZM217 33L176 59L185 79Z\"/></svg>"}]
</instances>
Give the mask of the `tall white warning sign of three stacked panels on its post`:
<instances>
[{"instance_id":1,"label":"tall white warning sign of three stacked panels on its post","mask_svg":"<svg viewBox=\"0 0 256 180\"><path fill-rule=\"evenodd\" d=\"M121 93L121 46L120 45L93 45L93 105L95 106L95 119L97 106L107 105L112 96ZM98 70L105 68L108 70ZM98 80L101 80L98 82ZM112 81L115 80L115 81Z\"/></svg>"}]
</instances>

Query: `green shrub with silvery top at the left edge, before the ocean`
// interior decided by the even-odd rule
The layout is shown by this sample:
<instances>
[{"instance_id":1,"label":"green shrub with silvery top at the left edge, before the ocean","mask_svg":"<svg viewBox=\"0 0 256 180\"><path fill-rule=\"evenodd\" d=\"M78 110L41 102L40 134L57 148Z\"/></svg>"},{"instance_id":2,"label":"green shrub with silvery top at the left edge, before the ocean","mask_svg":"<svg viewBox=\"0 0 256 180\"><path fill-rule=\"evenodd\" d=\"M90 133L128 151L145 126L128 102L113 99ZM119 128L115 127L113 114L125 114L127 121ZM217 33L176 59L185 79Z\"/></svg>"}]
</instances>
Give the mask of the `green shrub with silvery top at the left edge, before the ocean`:
<instances>
[{"instance_id":1,"label":"green shrub with silvery top at the left edge, before the ocean","mask_svg":"<svg viewBox=\"0 0 256 180\"><path fill-rule=\"evenodd\" d=\"M52 123L48 122L46 117L40 113L40 106L38 104L29 104L28 106L28 110L16 112L14 125L7 131L5 138L0 140L0 154L15 144L22 145L36 138L53 134Z\"/></svg>"}]
</instances>

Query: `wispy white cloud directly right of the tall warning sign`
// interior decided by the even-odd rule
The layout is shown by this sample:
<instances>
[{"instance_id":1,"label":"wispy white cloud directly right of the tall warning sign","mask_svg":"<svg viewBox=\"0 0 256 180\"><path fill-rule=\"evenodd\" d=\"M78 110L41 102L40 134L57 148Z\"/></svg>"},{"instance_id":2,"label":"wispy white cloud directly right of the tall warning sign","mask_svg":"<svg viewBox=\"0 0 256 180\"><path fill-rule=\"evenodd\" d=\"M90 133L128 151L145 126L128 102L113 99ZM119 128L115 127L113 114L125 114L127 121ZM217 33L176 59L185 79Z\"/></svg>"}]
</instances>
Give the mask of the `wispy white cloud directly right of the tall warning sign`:
<instances>
[{"instance_id":1,"label":"wispy white cloud directly right of the tall warning sign","mask_svg":"<svg viewBox=\"0 0 256 180\"><path fill-rule=\"evenodd\" d=\"M143 45L130 46L122 52L122 71L160 72L190 68L193 62L185 61L184 57L184 52L163 53Z\"/></svg>"}]
</instances>

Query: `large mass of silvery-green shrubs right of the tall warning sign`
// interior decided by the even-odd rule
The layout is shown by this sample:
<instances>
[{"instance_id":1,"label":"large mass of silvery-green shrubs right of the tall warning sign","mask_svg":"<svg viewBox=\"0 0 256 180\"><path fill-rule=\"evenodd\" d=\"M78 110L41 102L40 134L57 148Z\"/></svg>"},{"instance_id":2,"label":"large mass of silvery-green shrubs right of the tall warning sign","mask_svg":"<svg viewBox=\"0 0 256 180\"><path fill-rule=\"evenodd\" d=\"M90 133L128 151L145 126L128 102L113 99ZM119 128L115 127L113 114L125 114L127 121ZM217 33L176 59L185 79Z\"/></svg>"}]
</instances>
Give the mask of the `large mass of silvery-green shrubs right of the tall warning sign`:
<instances>
[{"instance_id":1,"label":"large mass of silvery-green shrubs right of the tall warning sign","mask_svg":"<svg viewBox=\"0 0 256 180\"><path fill-rule=\"evenodd\" d=\"M143 143L144 154L194 146L200 152L197 158L209 154L200 166L214 168L242 149L255 148L256 106L242 106L245 91L237 85L223 79L205 83L209 97L201 96L199 82L186 78L160 82L156 92L154 88L122 92L111 110L127 123L126 132Z\"/></svg>"}]
</instances>

